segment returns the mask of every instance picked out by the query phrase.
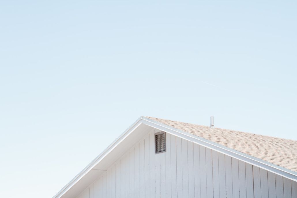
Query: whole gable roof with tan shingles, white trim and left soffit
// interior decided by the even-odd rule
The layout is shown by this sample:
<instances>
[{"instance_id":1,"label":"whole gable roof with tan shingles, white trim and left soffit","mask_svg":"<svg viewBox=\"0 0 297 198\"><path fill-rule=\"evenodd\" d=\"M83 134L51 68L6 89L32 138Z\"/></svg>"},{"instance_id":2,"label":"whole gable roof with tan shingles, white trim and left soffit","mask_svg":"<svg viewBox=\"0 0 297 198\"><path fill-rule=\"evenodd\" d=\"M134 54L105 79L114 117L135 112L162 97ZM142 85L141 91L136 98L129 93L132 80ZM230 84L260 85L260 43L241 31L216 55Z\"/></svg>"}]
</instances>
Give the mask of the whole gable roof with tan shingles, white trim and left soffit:
<instances>
[{"instance_id":1,"label":"whole gable roof with tan shingles, white trim and left soffit","mask_svg":"<svg viewBox=\"0 0 297 198\"><path fill-rule=\"evenodd\" d=\"M294 140L285 140L249 134L251 135L250 140L249 137L246 137L248 136L248 133L235 132L226 129L211 129L208 126L141 116L102 153L100 153L99 156L91 161L89 165L87 165L66 186L64 186L53 198L76 197L81 191L83 191L83 189L85 189L97 177L99 177L99 175L101 175L104 170L107 170L107 168L110 167L114 161L119 159L121 155L127 152L131 147L131 144L135 144L135 142L143 138L152 128L176 135L188 141L205 146L225 155L234 157L275 174L297 181L297 171L295 169L296 153L294 153L297 146L296 141ZM270 144L271 146L264 146L264 148L266 148L264 150L269 151L269 149L272 148L273 144L275 143L278 143L279 147L285 146L282 152L277 154L278 156L281 156L281 159L276 160L273 156L270 156L272 153L274 155L274 152L270 152L269 154L268 151L265 151L262 155L260 151L256 151L259 147L259 144L260 146L264 145L265 140L274 140L274 142L266 142L267 145ZM250 143L250 141L253 143ZM288 142L286 143L286 141ZM242 144L246 144L246 147L251 148L244 148L244 145ZM286 157L286 149L290 150L290 157ZM277 151L277 149L275 151ZM265 159L275 160L281 165L274 164L275 162L272 163L270 161L266 161ZM290 163L293 165L290 165Z\"/></svg>"}]
</instances>

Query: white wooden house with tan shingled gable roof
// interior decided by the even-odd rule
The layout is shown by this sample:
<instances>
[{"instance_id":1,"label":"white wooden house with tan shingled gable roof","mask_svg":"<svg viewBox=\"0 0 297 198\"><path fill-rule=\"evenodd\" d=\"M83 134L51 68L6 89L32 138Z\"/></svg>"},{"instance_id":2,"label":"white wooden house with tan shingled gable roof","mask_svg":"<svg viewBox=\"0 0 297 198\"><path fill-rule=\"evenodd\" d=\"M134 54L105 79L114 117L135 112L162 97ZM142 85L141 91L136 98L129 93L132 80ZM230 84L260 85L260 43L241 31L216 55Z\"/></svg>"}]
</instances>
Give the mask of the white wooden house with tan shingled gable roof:
<instances>
[{"instance_id":1,"label":"white wooden house with tan shingled gable roof","mask_svg":"<svg viewBox=\"0 0 297 198\"><path fill-rule=\"evenodd\" d=\"M297 141L140 117L53 198L297 197Z\"/></svg>"}]
</instances>

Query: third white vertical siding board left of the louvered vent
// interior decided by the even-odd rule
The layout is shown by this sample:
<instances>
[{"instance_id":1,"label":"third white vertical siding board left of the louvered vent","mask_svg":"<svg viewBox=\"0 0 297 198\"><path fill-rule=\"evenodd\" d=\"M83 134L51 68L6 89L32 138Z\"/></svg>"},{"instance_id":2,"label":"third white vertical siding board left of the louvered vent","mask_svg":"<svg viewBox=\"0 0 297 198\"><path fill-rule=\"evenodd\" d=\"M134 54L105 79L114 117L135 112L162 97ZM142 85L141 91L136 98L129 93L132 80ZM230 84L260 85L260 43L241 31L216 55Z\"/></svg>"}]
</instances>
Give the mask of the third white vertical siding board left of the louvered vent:
<instances>
[{"instance_id":1,"label":"third white vertical siding board left of the louvered vent","mask_svg":"<svg viewBox=\"0 0 297 198\"><path fill-rule=\"evenodd\" d=\"M146 178L145 178L145 152L144 152L144 140L142 140L139 143L139 160L140 160L140 165L139 165L139 175L140 175L140 197L145 197L145 188L146 188Z\"/></svg>"}]
</instances>

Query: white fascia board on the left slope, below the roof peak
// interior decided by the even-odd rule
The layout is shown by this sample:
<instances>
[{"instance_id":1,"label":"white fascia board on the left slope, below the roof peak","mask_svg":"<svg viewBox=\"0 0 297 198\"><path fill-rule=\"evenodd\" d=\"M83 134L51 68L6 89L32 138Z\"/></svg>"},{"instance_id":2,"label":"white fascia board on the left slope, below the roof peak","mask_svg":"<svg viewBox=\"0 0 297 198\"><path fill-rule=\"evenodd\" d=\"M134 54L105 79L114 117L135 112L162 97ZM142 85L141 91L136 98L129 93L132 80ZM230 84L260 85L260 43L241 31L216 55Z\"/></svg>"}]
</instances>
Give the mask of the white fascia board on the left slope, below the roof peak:
<instances>
[{"instance_id":1,"label":"white fascia board on the left slope, below the roof peak","mask_svg":"<svg viewBox=\"0 0 297 198\"><path fill-rule=\"evenodd\" d=\"M138 118L126 131L124 131L116 140L114 140L102 153L100 153L90 164L88 164L78 175L76 175L66 186L64 186L53 198L62 197L69 189L72 188L84 175L94 168L108 153L119 145L129 134L131 134L141 123L143 116Z\"/></svg>"}]
</instances>

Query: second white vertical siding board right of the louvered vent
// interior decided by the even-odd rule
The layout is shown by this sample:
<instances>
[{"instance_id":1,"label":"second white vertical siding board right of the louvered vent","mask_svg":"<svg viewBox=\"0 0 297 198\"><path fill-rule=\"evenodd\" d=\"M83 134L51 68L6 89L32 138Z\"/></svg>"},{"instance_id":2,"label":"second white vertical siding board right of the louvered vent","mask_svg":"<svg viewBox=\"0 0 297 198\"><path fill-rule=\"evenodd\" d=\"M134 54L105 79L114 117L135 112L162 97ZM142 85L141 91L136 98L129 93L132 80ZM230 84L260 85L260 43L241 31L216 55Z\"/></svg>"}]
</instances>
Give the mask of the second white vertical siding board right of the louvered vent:
<instances>
[{"instance_id":1,"label":"second white vertical siding board right of the louvered vent","mask_svg":"<svg viewBox=\"0 0 297 198\"><path fill-rule=\"evenodd\" d=\"M170 171L171 171L171 197L177 197L177 178L176 178L176 139L175 135L170 135Z\"/></svg>"}]
</instances>

